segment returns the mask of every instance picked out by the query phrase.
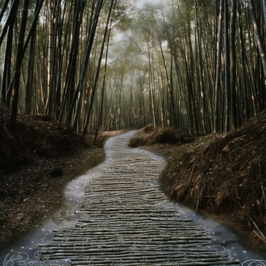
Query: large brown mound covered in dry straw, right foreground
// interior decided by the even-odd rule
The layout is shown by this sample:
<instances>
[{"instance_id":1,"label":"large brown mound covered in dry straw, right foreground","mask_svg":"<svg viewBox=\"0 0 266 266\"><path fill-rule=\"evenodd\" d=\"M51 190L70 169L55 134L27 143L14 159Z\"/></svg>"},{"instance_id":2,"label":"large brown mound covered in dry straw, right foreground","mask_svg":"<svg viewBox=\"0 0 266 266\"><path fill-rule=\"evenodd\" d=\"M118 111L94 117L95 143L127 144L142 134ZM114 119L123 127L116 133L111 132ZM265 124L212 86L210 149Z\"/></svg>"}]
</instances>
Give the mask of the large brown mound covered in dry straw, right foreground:
<instances>
[{"instance_id":1,"label":"large brown mound covered in dry straw, right foreground","mask_svg":"<svg viewBox=\"0 0 266 266\"><path fill-rule=\"evenodd\" d=\"M241 207L265 227L265 165L264 113L238 130L182 146L182 152L172 159L163 185L178 200L194 207L200 204L214 213Z\"/></svg>"}]
</instances>

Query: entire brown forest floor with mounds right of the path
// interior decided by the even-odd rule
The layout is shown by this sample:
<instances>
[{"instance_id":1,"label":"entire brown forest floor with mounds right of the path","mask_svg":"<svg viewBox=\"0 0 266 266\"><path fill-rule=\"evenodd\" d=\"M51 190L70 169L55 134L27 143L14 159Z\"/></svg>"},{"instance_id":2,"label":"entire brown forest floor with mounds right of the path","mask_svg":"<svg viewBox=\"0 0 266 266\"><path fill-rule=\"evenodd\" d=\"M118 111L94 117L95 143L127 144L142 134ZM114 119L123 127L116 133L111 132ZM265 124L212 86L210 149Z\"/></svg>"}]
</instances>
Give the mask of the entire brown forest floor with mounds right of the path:
<instances>
[{"instance_id":1,"label":"entire brown forest floor with mounds right of the path","mask_svg":"<svg viewBox=\"0 0 266 266\"><path fill-rule=\"evenodd\" d=\"M188 135L148 125L130 141L168 159L161 179L172 198L234 228L266 254L266 112L226 134Z\"/></svg>"}]
</instances>

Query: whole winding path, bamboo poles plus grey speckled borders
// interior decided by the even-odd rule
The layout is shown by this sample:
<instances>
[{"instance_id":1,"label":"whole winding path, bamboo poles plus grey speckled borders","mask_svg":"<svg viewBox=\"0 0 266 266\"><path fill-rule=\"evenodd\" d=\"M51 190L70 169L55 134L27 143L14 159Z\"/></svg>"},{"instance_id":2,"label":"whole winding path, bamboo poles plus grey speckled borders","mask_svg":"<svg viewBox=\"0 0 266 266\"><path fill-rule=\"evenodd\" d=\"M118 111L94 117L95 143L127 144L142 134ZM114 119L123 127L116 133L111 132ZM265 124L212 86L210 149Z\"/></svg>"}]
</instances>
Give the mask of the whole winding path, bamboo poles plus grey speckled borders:
<instances>
[{"instance_id":1,"label":"whole winding path, bamboo poles plus grey speckled borders","mask_svg":"<svg viewBox=\"0 0 266 266\"><path fill-rule=\"evenodd\" d=\"M2 253L1 266L266 265L230 229L169 201L159 182L167 162L129 148L133 134L109 139L106 161L72 180L65 206Z\"/></svg>"}]
</instances>

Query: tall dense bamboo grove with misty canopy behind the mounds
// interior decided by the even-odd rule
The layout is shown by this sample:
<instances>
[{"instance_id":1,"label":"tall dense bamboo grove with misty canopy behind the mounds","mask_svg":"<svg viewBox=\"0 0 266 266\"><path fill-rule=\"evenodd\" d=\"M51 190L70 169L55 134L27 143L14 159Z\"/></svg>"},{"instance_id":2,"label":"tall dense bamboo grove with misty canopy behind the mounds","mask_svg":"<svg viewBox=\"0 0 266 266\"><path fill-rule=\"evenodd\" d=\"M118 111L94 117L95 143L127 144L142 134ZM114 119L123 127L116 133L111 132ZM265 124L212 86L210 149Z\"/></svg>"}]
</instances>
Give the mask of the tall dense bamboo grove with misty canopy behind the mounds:
<instances>
[{"instance_id":1,"label":"tall dense bamboo grove with misty canopy behind the mounds","mask_svg":"<svg viewBox=\"0 0 266 266\"><path fill-rule=\"evenodd\" d=\"M265 108L266 0L2 0L1 105L82 134L210 134Z\"/></svg>"}]
</instances>

